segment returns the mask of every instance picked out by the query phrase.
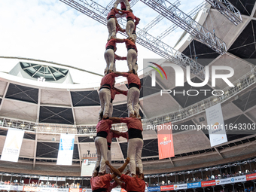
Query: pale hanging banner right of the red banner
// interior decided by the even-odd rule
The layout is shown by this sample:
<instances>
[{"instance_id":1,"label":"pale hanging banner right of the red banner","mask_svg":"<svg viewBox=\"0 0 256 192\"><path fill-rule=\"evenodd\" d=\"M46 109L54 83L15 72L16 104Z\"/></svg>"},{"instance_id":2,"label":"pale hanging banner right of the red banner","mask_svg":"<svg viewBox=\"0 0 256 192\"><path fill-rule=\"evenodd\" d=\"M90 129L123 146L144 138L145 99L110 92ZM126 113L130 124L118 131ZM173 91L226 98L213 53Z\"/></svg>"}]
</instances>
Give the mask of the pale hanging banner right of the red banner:
<instances>
[{"instance_id":1,"label":"pale hanging banner right of the red banner","mask_svg":"<svg viewBox=\"0 0 256 192\"><path fill-rule=\"evenodd\" d=\"M206 108L206 119L209 126L211 147L227 142L227 134L220 103Z\"/></svg>"}]
</instances>

